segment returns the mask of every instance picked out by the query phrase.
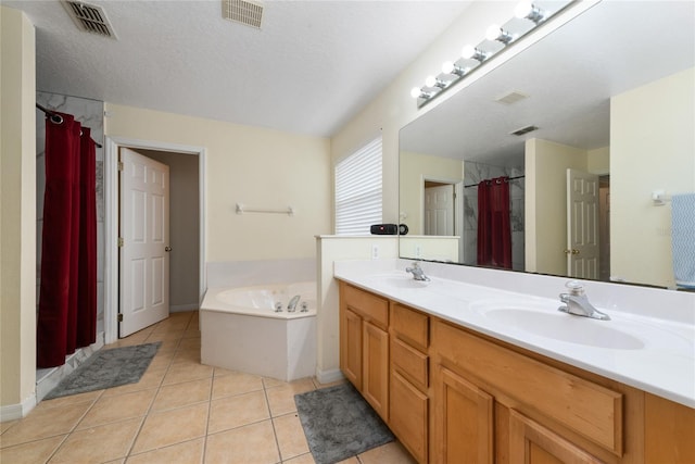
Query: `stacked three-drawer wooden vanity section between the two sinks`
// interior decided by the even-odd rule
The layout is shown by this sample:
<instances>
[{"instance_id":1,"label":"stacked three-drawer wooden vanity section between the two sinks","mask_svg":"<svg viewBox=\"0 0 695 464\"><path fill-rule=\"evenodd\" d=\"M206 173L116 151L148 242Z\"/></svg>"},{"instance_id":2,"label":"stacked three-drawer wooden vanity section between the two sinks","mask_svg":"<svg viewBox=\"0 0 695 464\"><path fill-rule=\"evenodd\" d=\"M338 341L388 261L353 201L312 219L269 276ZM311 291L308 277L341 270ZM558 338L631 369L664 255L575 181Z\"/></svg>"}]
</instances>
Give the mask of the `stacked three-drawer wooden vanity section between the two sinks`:
<instances>
[{"instance_id":1,"label":"stacked three-drawer wooden vanity section between the two sinks","mask_svg":"<svg viewBox=\"0 0 695 464\"><path fill-rule=\"evenodd\" d=\"M391 302L389 426L420 463L429 454L429 316Z\"/></svg>"}]
</instances>

